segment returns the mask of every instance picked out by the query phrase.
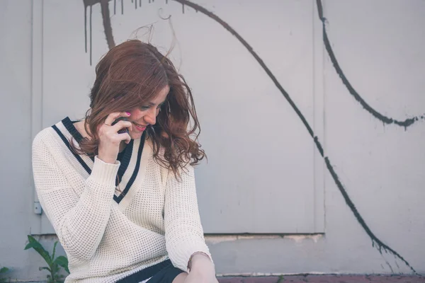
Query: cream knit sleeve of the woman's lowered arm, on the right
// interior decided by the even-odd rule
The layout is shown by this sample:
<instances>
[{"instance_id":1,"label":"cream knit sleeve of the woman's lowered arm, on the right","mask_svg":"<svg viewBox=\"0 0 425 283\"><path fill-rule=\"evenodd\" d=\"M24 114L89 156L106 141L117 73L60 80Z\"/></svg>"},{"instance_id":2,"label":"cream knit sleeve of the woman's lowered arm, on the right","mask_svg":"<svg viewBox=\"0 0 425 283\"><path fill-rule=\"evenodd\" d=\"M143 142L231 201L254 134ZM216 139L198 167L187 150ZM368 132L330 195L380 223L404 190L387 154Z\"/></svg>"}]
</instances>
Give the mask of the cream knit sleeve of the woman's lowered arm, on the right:
<instances>
[{"instance_id":1,"label":"cream knit sleeve of the woman's lowered arm, on the right","mask_svg":"<svg viewBox=\"0 0 425 283\"><path fill-rule=\"evenodd\" d=\"M193 167L186 169L181 180L169 172L164 204L166 250L173 265L183 271L188 271L188 260L195 252L211 258L200 224Z\"/></svg>"}]
</instances>

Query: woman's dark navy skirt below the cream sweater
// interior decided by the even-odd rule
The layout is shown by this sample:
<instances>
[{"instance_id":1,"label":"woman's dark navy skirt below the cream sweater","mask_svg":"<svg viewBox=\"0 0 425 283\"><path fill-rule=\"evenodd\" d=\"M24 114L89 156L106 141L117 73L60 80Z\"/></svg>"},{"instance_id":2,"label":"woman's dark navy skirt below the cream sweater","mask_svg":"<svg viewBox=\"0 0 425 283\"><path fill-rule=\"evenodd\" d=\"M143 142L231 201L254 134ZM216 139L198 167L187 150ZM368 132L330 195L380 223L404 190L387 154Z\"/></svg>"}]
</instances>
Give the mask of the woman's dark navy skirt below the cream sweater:
<instances>
[{"instance_id":1,"label":"woman's dark navy skirt below the cream sweater","mask_svg":"<svg viewBox=\"0 0 425 283\"><path fill-rule=\"evenodd\" d=\"M118 280L117 283L139 283L150 277L152 278L149 279L147 283L171 283L181 272L183 271L174 267L171 260L165 260L129 275L128 277L124 277Z\"/></svg>"}]
</instances>

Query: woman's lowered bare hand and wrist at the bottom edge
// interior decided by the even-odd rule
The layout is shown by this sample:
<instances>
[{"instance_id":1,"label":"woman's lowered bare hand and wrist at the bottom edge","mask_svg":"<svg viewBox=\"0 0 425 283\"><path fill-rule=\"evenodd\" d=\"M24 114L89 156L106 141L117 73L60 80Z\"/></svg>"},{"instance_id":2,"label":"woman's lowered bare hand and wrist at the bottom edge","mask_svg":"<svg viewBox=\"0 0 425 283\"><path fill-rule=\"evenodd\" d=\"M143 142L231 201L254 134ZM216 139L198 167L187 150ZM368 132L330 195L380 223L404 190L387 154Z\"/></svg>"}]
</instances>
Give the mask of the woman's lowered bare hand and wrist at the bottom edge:
<instances>
[{"instance_id":1,"label":"woman's lowered bare hand and wrist at the bottom edge","mask_svg":"<svg viewBox=\"0 0 425 283\"><path fill-rule=\"evenodd\" d=\"M210 258L203 254L193 255L191 271L184 283L218 283L215 278L215 267Z\"/></svg>"}]
</instances>

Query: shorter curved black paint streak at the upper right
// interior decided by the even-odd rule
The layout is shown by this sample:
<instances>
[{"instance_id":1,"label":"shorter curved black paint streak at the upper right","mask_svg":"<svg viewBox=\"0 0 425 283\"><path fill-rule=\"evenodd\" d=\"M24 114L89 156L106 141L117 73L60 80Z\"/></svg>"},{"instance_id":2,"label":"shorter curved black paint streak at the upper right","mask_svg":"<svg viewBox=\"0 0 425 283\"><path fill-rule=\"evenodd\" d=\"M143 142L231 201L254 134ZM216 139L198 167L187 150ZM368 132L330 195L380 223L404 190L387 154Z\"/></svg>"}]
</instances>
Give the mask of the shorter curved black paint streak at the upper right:
<instances>
[{"instance_id":1,"label":"shorter curved black paint streak at the upper right","mask_svg":"<svg viewBox=\"0 0 425 283\"><path fill-rule=\"evenodd\" d=\"M336 60L334 51L332 50L331 43L329 42L329 37L328 37L327 31L326 31L325 22L327 20L323 16L322 1L321 0L316 0L316 1L317 1L317 12L319 13L319 19L320 19L320 21L322 21L322 26L323 26L324 46L326 47L326 50L329 54L332 65L334 65L336 73L339 75L342 83L344 83L344 85L346 86L348 91L351 93L351 95L354 97L354 99L356 99L358 101L358 103L360 103L366 111L368 111L370 114L372 114L373 117L377 118L378 120L381 120L385 124L395 124L395 125L404 127L404 129L407 129L407 127L409 127L410 125L413 125L413 123L418 121L419 119L424 120L424 118L425 118L424 116L413 117L413 118L406 119L404 121L395 120L395 119L392 119L392 118L387 117L385 115L382 115L380 112L373 109L370 105L368 105L368 103L365 102L365 100L358 94L358 92L353 88L353 86L351 86L351 83L348 81L348 79L344 75L344 71L342 71L341 67L339 66L338 60Z\"/></svg>"}]
</instances>

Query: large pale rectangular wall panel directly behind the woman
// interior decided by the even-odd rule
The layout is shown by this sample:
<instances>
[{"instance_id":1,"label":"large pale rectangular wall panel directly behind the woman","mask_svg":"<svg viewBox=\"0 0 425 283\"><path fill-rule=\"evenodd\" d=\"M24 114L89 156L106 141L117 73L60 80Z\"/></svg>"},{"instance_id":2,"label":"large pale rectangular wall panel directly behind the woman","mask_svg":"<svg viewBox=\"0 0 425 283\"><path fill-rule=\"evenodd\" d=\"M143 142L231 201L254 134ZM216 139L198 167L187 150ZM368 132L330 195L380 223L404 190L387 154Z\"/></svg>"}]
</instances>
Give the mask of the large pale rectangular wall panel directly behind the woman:
<instances>
[{"instance_id":1,"label":"large pale rectangular wall panel directly behind the woman","mask_svg":"<svg viewBox=\"0 0 425 283\"><path fill-rule=\"evenodd\" d=\"M87 8L85 19L79 1L43 3L40 129L66 115L82 116L89 104L86 93L94 82L94 64L108 50L99 4ZM173 35L169 21L159 18L158 13L172 15L178 44L171 58L193 89L202 125L200 142L208 152L208 164L201 164L196 171L205 232L324 232L324 165L314 162L320 156L311 146L311 137L258 62L221 25L187 5L182 13L181 4L175 1L145 3L139 8L130 1L124 3L123 15L119 3L118 13L113 15L110 2L115 42L128 39L140 26L154 23L152 42L166 52ZM275 1L271 5L245 2L239 11L237 1L209 4L225 18L239 11L238 17L229 18L229 24L258 45L262 59L292 93L314 131L323 136L323 86L314 80L323 76L319 19L312 16L314 2ZM265 23L264 28L254 25L253 29L252 18L271 11L271 16L282 17L279 25ZM87 54L83 49L85 20L91 50ZM146 38L144 31L138 33L142 39ZM273 40L276 44L270 45L270 35L279 33ZM280 54L283 42L285 52ZM246 83L247 78L253 82ZM256 136L270 131L273 139L265 151L263 139ZM290 185L281 183L282 176ZM263 185L268 193L263 193ZM297 214L291 214L295 209ZM280 221L271 224L263 217ZM41 232L52 231L48 226L47 218L42 217Z\"/></svg>"}]
</instances>

